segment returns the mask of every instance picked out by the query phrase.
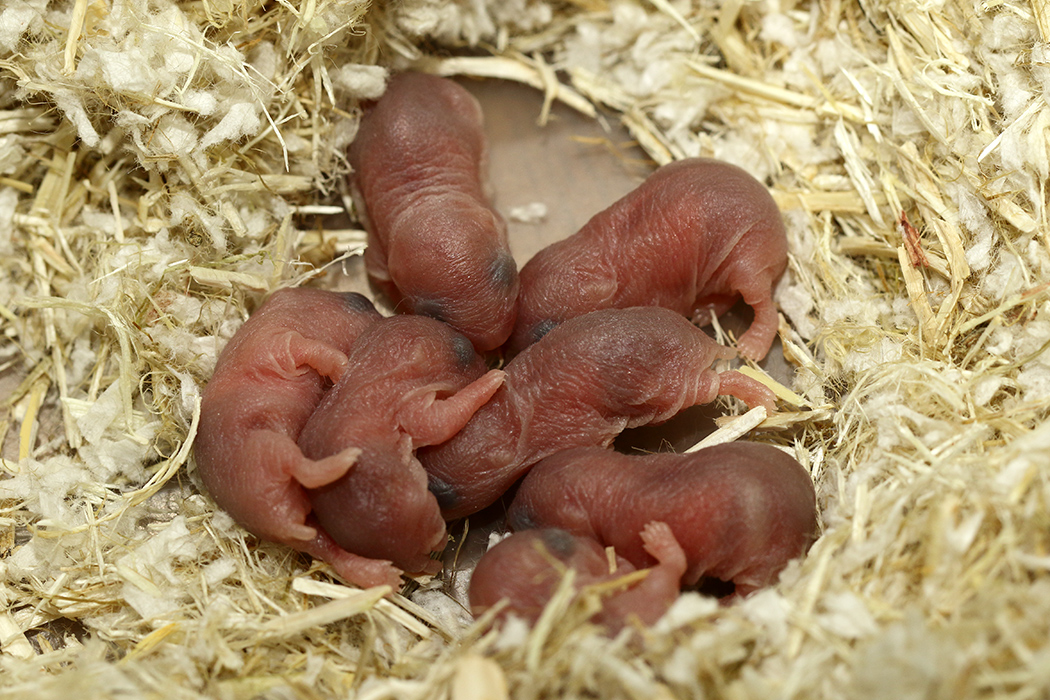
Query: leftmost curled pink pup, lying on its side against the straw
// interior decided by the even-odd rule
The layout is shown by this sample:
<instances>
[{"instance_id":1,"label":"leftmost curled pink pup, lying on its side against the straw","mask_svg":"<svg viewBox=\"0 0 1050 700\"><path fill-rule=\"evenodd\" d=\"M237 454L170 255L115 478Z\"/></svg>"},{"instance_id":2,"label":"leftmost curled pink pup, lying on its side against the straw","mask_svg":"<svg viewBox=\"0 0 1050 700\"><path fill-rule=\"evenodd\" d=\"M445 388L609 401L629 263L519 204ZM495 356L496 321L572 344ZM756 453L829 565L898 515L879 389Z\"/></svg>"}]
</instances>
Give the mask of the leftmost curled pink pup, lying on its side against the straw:
<instances>
[{"instance_id":1,"label":"leftmost curled pink pup, lying on its side against the straw","mask_svg":"<svg viewBox=\"0 0 1050 700\"><path fill-rule=\"evenodd\" d=\"M341 476L356 450L313 461L296 445L346 353L380 319L359 294L275 292L226 345L204 389L194 443L215 502L255 535L329 561L345 575L353 555L310 517L303 486Z\"/></svg>"}]
</instances>

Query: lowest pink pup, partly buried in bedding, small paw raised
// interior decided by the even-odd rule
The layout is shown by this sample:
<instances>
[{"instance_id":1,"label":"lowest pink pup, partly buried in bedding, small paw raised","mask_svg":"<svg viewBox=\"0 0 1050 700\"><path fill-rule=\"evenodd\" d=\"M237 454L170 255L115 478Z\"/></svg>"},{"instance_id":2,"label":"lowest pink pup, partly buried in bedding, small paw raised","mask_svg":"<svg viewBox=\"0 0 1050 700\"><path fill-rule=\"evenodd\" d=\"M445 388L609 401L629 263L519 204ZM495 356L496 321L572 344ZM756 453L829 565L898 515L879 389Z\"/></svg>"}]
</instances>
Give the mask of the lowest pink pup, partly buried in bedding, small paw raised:
<instances>
[{"instance_id":1,"label":"lowest pink pup, partly buried in bedding, small paw raised","mask_svg":"<svg viewBox=\"0 0 1050 700\"><path fill-rule=\"evenodd\" d=\"M640 535L656 564L645 578L626 589L613 589L603 600L595 621L616 632L636 620L652 624L678 597L686 571L686 554L665 523L646 525ZM481 615L501 600L500 615L513 614L529 622L539 619L566 570L573 569L575 590L615 581L638 570L622 556L609 570L605 549L591 537L545 528L516 532L488 550L470 576L470 609Z\"/></svg>"}]
</instances>

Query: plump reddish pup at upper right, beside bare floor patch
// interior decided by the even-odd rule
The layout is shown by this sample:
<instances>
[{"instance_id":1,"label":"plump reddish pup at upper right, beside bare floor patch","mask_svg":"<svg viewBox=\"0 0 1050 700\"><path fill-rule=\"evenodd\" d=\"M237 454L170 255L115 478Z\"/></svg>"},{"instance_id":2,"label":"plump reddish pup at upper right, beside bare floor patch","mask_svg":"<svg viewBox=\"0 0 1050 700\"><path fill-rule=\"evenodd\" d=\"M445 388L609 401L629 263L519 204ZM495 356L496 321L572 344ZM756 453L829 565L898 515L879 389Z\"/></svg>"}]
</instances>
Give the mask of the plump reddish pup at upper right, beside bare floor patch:
<instances>
[{"instance_id":1,"label":"plump reddish pup at upper right, beside bare floor patch","mask_svg":"<svg viewBox=\"0 0 1050 700\"><path fill-rule=\"evenodd\" d=\"M737 349L759 360L776 337L773 287L786 264L780 211L761 183L720 161L678 161L522 268L507 352L596 309L664 306L706 324L742 296L755 317Z\"/></svg>"}]
</instances>

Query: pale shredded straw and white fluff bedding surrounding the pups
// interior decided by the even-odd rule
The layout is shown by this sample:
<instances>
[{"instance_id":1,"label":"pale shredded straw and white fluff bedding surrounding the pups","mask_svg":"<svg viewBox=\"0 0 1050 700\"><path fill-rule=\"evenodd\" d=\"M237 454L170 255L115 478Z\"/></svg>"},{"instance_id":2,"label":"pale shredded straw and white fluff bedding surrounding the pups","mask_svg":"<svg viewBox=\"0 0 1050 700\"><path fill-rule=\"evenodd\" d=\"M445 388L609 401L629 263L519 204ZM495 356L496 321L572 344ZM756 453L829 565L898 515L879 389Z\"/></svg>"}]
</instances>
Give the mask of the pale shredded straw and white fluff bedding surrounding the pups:
<instances>
[{"instance_id":1,"label":"pale shredded straw and white fluff bedding surrounding the pups","mask_svg":"<svg viewBox=\"0 0 1050 700\"><path fill-rule=\"evenodd\" d=\"M1048 40L1043 0L8 0L0 696L1045 696ZM822 523L777 586L684 595L640 642L566 591L494 632L434 582L341 586L200 493L216 353L360 252L314 221L342 211L356 105L408 66L770 184L795 376L749 439L810 469Z\"/></svg>"}]
</instances>

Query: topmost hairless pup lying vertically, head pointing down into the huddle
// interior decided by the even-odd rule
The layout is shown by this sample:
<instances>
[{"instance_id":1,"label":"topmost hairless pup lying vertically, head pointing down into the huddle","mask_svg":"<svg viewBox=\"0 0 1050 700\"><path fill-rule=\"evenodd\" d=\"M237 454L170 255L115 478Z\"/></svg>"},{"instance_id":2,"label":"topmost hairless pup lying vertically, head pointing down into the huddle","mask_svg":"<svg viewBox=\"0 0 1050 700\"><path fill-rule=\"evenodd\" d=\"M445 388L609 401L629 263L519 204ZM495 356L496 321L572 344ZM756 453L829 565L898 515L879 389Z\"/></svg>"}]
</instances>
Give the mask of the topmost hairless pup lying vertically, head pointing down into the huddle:
<instances>
[{"instance_id":1,"label":"topmost hairless pup lying vertically, head pointing down into the huddle","mask_svg":"<svg viewBox=\"0 0 1050 700\"><path fill-rule=\"evenodd\" d=\"M450 80L395 76L350 147L365 268L399 311L432 316L479 351L517 314L518 266L483 191L481 107Z\"/></svg>"}]
</instances>

